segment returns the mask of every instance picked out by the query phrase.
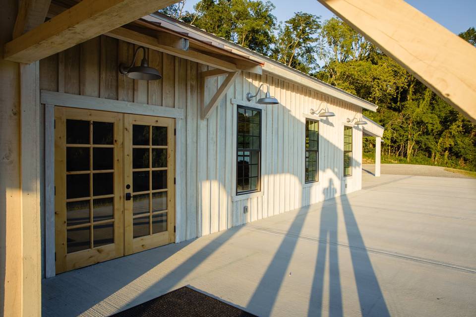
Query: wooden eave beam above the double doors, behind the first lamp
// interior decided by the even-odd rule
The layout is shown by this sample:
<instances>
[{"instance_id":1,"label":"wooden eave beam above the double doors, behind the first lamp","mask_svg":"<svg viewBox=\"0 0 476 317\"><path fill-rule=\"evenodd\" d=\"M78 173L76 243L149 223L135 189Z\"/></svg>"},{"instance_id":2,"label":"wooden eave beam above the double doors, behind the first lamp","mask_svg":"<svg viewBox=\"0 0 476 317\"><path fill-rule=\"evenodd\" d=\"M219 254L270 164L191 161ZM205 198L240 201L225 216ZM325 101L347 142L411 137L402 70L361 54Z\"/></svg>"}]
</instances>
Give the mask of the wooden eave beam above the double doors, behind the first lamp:
<instances>
[{"instance_id":1,"label":"wooden eave beam above the double doors, behind the first lamp","mask_svg":"<svg viewBox=\"0 0 476 317\"><path fill-rule=\"evenodd\" d=\"M198 63L209 65L215 68L220 68L229 72L238 70L237 65L231 62L224 61L224 60L221 60L220 58L216 58L216 57L209 56L209 55L192 51L192 50L183 51L183 50L176 49L170 46L166 46L166 45L160 44L160 41L155 37L151 37L142 33L128 30L123 27L112 30L106 33L106 35L122 40L122 41L134 43L136 45L141 45L152 50L157 50L157 51L178 56L181 58L189 59Z\"/></svg>"}]
</instances>

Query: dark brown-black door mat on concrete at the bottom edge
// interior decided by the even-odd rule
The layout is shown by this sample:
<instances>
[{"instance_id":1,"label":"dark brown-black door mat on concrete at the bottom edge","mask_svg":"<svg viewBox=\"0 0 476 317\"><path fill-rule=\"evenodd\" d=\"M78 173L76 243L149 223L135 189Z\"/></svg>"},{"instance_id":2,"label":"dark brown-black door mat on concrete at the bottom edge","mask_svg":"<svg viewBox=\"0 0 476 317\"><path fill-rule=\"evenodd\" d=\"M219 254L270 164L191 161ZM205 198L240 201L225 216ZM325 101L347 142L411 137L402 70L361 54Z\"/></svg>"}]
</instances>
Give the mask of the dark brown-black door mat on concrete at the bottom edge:
<instances>
[{"instance_id":1,"label":"dark brown-black door mat on concrete at the bottom edge","mask_svg":"<svg viewBox=\"0 0 476 317\"><path fill-rule=\"evenodd\" d=\"M182 287L120 312L115 317L256 317L213 297Z\"/></svg>"}]
</instances>

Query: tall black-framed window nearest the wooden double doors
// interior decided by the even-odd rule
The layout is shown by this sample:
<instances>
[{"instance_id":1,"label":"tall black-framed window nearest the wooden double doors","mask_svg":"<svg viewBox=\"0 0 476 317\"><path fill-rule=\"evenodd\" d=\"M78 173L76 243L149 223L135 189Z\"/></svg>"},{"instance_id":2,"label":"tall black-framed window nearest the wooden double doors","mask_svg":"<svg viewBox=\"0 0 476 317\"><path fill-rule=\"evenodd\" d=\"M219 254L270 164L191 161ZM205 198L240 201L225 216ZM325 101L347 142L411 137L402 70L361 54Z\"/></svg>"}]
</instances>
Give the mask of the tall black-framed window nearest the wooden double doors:
<instances>
[{"instance_id":1,"label":"tall black-framed window nearest the wooden double doors","mask_svg":"<svg viewBox=\"0 0 476 317\"><path fill-rule=\"evenodd\" d=\"M237 194L259 191L261 110L238 106Z\"/></svg>"}]
</instances>

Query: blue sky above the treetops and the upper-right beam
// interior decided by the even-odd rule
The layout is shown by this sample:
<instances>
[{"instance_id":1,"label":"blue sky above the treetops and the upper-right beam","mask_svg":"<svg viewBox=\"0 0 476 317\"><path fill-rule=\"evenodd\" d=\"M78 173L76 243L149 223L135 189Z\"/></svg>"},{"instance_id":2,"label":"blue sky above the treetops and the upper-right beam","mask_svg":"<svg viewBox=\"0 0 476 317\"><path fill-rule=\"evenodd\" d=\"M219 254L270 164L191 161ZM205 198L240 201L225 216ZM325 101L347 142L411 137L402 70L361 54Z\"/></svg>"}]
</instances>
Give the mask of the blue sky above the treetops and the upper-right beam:
<instances>
[{"instance_id":1,"label":"blue sky above the treetops and the upper-right beam","mask_svg":"<svg viewBox=\"0 0 476 317\"><path fill-rule=\"evenodd\" d=\"M470 27L476 27L476 0L406 0L418 10L440 23L453 33L461 33ZM198 0L186 0L185 8L193 10ZM317 0L272 0L276 9L274 15L278 21L286 21L294 12L303 11L320 15L327 20L333 13Z\"/></svg>"}]
</instances>

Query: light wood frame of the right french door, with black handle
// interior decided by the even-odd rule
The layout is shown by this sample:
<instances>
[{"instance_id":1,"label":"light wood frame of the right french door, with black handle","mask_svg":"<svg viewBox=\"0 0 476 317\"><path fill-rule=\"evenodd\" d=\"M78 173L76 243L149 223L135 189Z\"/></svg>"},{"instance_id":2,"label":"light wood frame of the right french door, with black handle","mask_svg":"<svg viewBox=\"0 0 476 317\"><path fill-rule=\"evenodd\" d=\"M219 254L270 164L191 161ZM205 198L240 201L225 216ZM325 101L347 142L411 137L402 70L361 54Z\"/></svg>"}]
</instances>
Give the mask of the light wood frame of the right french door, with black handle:
<instances>
[{"instance_id":1,"label":"light wood frame of the right french door, with black handle","mask_svg":"<svg viewBox=\"0 0 476 317\"><path fill-rule=\"evenodd\" d=\"M132 179L132 126L149 125L167 127L167 231L156 234L133 238L133 179ZM150 136L151 138L151 136ZM124 200L124 254L148 250L158 246L175 242L175 119L153 117L146 115L124 114L124 193L130 193L132 198ZM152 155L149 156L151 164ZM150 165L151 167L152 165ZM152 172L152 170L150 170ZM151 179L151 178L150 178ZM127 189L129 184L131 188ZM149 192L152 193L152 184L149 184ZM124 194L125 195L125 194ZM151 194L149 194L151 195ZM151 201L149 200L149 208ZM164 211L161 211L164 212ZM150 219L151 221L151 219ZM152 224L150 223L150 228Z\"/></svg>"}]
</instances>

